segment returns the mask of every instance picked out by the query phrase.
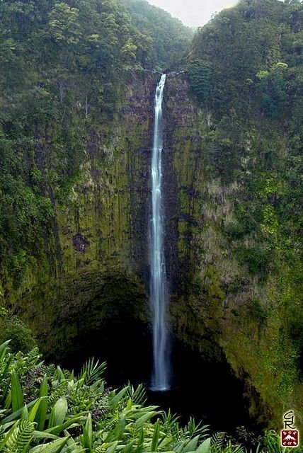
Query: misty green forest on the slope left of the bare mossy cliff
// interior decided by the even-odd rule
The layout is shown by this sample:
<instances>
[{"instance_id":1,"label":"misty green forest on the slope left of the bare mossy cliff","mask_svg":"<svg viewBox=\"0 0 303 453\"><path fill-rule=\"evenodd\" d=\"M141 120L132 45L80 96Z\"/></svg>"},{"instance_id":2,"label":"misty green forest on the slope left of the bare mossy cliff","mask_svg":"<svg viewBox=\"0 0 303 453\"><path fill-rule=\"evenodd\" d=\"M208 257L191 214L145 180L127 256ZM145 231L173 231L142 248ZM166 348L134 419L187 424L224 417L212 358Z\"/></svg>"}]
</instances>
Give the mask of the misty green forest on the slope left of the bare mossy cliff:
<instances>
[{"instance_id":1,"label":"misty green forest on the slope left of the bare mossy cliff","mask_svg":"<svg viewBox=\"0 0 303 453\"><path fill-rule=\"evenodd\" d=\"M115 0L0 2L0 261L16 286L52 253L56 202L95 121L117 111L123 70L168 67L187 49L181 22L125 5L131 14Z\"/></svg>"}]
</instances>

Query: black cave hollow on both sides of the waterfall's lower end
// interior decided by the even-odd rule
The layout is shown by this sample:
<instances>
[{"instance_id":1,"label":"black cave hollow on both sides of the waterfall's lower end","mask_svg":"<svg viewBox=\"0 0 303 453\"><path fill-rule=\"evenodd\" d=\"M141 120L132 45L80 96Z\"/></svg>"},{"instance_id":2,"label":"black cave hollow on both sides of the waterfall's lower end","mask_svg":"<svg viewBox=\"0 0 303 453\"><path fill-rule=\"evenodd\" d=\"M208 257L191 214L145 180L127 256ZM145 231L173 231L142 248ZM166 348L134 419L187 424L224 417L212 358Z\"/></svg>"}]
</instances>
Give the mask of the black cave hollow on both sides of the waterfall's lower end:
<instances>
[{"instance_id":1,"label":"black cave hollow on both sides of the waterfall's lower end","mask_svg":"<svg viewBox=\"0 0 303 453\"><path fill-rule=\"evenodd\" d=\"M151 332L147 323L132 319L129 312L109 319L100 328L77 336L72 347L64 351L60 362L64 367L79 370L90 357L107 362L105 379L108 386L118 388L130 381L144 383L148 403L180 415L187 423L190 416L211 425L212 430L234 433L244 425L257 426L248 415L244 383L237 379L225 361L204 360L179 340L172 341L172 388L165 393L149 390L152 351Z\"/></svg>"}]
</instances>

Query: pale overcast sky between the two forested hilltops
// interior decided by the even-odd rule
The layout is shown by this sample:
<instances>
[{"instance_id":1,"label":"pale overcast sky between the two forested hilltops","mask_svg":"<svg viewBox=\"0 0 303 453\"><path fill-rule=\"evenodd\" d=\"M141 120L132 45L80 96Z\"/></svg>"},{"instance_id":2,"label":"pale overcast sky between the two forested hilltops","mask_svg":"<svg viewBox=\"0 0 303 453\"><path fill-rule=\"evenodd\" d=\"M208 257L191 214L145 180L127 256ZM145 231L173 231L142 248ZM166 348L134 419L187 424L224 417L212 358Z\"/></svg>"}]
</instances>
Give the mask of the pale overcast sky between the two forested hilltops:
<instances>
[{"instance_id":1,"label":"pale overcast sky between the two forested hilltops","mask_svg":"<svg viewBox=\"0 0 303 453\"><path fill-rule=\"evenodd\" d=\"M236 4L236 0L147 0L165 9L185 25L200 27L210 20L212 13Z\"/></svg>"}]
</instances>

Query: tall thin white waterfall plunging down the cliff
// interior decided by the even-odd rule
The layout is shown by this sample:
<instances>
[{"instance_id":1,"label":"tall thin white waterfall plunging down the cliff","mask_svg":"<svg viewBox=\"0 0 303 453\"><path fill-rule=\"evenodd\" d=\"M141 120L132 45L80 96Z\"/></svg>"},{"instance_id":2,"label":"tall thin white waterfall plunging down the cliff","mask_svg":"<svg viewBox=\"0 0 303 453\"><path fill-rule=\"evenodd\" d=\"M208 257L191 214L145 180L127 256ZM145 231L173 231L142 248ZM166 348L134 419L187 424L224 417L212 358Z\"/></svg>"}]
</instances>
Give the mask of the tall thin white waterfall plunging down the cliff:
<instances>
[{"instance_id":1,"label":"tall thin white waterfall plunging down the cliff","mask_svg":"<svg viewBox=\"0 0 303 453\"><path fill-rule=\"evenodd\" d=\"M161 154L163 148L162 101L166 75L163 74L156 87L154 103L154 143L151 156L151 241L149 260L151 268L150 298L153 314L154 369L151 390L169 389L168 333L166 326L166 271L163 243L162 217L162 173Z\"/></svg>"}]
</instances>

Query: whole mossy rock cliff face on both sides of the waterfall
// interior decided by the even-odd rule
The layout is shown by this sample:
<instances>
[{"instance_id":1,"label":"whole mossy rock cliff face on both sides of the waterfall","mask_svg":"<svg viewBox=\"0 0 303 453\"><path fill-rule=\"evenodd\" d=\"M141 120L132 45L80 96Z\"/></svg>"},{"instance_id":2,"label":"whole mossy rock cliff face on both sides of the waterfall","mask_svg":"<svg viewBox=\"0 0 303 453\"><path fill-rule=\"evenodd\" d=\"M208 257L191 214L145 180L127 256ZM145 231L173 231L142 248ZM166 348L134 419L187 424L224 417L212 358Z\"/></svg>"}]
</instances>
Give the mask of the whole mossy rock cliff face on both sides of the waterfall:
<instances>
[{"instance_id":1,"label":"whole mossy rock cliff face on both sides of the waterfall","mask_svg":"<svg viewBox=\"0 0 303 453\"><path fill-rule=\"evenodd\" d=\"M17 288L5 274L7 303L30 323L48 356L76 355L98 331L117 323L123 331L130 321L148 343L149 166L158 81L157 73L130 72L112 120L104 126L100 115L81 129L83 158L64 199L49 187L55 217L45 260L28 268ZM184 73L168 74L164 121L171 331L205 360L227 360L246 382L251 414L279 427L284 410L299 408L302 390L293 362L281 362L293 348L280 338L278 288L274 277L263 283L251 275L222 232L234 219L241 188L205 177L210 169L202 157L214 124L189 96ZM51 147L41 134L42 171L51 171Z\"/></svg>"}]
</instances>

